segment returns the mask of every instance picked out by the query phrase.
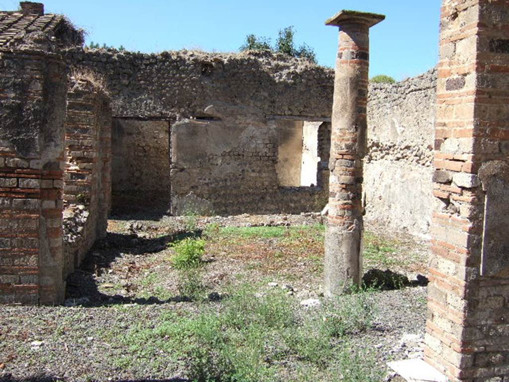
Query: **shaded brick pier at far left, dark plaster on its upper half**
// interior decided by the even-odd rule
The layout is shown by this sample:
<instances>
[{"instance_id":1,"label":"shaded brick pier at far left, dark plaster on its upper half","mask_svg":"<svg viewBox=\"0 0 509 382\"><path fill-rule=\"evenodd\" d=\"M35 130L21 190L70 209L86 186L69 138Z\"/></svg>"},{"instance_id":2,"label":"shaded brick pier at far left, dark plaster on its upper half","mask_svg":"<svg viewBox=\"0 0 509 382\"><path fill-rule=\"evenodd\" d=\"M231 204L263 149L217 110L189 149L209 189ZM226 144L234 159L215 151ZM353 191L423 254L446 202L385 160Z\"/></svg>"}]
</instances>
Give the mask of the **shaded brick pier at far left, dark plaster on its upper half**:
<instances>
[{"instance_id":1,"label":"shaded brick pier at far left, dark plaster on its upper half","mask_svg":"<svg viewBox=\"0 0 509 382\"><path fill-rule=\"evenodd\" d=\"M60 56L0 51L0 303L63 302L66 90Z\"/></svg>"}]
</instances>

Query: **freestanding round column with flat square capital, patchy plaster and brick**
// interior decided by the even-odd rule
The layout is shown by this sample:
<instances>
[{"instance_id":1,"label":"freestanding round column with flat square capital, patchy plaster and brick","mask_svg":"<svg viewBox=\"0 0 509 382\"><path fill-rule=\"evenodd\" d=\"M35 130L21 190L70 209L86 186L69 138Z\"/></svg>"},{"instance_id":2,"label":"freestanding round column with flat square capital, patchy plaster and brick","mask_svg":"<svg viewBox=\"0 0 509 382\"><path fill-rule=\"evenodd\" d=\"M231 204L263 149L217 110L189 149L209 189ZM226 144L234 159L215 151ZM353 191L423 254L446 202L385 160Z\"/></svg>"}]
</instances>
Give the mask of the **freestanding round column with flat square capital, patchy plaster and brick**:
<instances>
[{"instance_id":1,"label":"freestanding round column with flat square capital, patchy plaster and brick","mask_svg":"<svg viewBox=\"0 0 509 382\"><path fill-rule=\"evenodd\" d=\"M362 278L362 158L366 151L369 29L383 15L342 11L327 25L340 27L334 77L325 236L325 294L341 293Z\"/></svg>"}]
</instances>

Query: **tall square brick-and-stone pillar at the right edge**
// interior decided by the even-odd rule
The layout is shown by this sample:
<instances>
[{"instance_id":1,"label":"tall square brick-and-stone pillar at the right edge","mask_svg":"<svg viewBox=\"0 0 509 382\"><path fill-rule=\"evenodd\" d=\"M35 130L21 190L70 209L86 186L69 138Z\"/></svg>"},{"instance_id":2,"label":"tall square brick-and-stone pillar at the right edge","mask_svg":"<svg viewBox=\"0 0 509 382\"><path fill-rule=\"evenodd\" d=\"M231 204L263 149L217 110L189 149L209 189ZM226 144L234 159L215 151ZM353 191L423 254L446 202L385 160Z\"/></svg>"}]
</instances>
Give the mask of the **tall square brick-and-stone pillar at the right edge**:
<instances>
[{"instance_id":1,"label":"tall square brick-and-stone pillar at the right edge","mask_svg":"<svg viewBox=\"0 0 509 382\"><path fill-rule=\"evenodd\" d=\"M509 3L444 0L425 360L509 375Z\"/></svg>"}]
</instances>

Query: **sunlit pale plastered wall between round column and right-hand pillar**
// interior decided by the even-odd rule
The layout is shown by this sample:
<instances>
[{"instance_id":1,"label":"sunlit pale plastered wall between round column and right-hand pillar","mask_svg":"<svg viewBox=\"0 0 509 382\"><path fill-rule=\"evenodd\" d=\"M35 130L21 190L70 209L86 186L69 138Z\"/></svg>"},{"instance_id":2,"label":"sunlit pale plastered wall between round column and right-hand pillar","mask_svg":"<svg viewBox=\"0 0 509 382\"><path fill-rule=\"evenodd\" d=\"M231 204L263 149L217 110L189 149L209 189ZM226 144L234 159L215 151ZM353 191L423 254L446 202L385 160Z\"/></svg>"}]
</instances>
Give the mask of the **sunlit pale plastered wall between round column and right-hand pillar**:
<instances>
[{"instance_id":1,"label":"sunlit pale plastered wall between round column and right-hand pillar","mask_svg":"<svg viewBox=\"0 0 509 382\"><path fill-rule=\"evenodd\" d=\"M366 220L428 234L432 212L436 70L371 84L364 167Z\"/></svg>"}]
</instances>

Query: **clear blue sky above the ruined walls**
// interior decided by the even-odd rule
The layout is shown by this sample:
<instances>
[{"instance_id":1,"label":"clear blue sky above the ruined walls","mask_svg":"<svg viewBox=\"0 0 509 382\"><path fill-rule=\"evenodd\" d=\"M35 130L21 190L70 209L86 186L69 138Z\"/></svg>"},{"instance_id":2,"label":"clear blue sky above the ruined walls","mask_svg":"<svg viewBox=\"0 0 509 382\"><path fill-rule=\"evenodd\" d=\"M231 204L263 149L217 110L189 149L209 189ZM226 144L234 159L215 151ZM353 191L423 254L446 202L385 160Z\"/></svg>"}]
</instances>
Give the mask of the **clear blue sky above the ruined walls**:
<instances>
[{"instance_id":1,"label":"clear blue sky above the ruined walls","mask_svg":"<svg viewBox=\"0 0 509 382\"><path fill-rule=\"evenodd\" d=\"M436 65L441 0L42 0L88 32L87 43L159 52L182 48L236 51L247 34L271 37L294 25L297 45L312 46L318 63L334 66L337 28L324 21L341 9L383 13L371 30L370 75L398 80ZM0 0L0 9L19 2Z\"/></svg>"}]
</instances>

